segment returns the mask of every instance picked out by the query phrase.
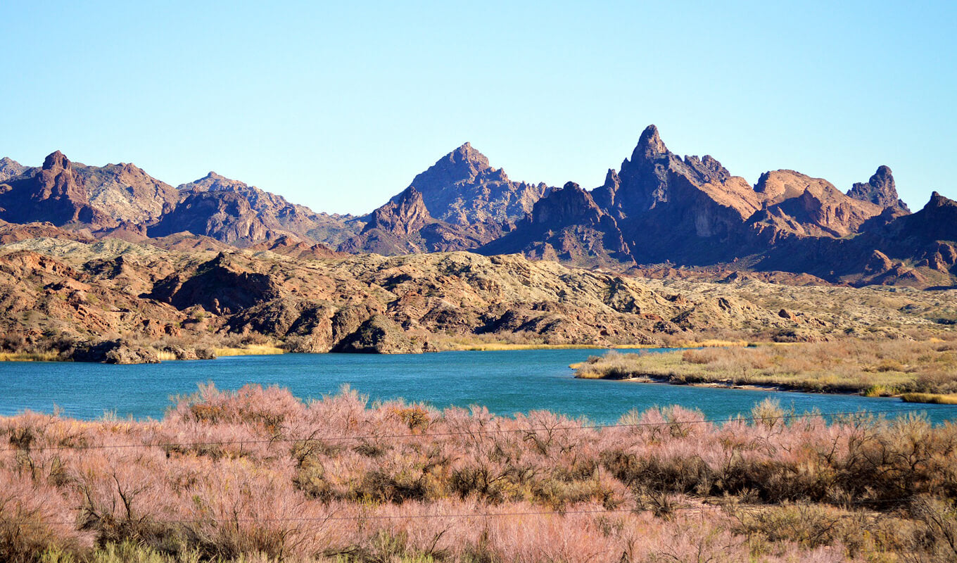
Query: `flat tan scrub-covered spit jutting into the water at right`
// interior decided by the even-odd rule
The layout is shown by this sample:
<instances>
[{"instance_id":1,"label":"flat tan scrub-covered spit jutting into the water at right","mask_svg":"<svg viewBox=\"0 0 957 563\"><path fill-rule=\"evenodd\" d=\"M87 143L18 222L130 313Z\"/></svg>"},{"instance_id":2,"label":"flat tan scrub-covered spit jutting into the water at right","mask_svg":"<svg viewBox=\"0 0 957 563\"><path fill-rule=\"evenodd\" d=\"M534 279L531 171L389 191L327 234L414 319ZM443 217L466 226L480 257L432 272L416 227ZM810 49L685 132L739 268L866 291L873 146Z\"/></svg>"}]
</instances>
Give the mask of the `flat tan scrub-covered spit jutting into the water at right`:
<instances>
[{"instance_id":1,"label":"flat tan scrub-covered spit jutting into the water at right","mask_svg":"<svg viewBox=\"0 0 957 563\"><path fill-rule=\"evenodd\" d=\"M845 339L655 354L612 351L574 367L582 378L761 385L868 396L957 393L957 342L940 339Z\"/></svg>"}]
</instances>

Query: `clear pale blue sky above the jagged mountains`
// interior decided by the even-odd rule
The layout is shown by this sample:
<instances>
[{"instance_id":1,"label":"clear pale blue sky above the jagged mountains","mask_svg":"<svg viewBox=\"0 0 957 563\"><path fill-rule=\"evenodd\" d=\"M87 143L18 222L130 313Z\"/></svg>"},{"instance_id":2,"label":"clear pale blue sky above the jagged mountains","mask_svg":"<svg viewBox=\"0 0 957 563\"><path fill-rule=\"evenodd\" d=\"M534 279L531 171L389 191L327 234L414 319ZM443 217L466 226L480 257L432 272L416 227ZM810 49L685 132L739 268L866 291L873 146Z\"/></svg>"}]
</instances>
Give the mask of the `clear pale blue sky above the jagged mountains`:
<instances>
[{"instance_id":1,"label":"clear pale blue sky above the jagged mountains","mask_svg":"<svg viewBox=\"0 0 957 563\"><path fill-rule=\"evenodd\" d=\"M465 141L594 187L657 124L751 183L886 164L912 208L957 197L954 3L722 4L8 0L0 155L364 213Z\"/></svg>"}]
</instances>

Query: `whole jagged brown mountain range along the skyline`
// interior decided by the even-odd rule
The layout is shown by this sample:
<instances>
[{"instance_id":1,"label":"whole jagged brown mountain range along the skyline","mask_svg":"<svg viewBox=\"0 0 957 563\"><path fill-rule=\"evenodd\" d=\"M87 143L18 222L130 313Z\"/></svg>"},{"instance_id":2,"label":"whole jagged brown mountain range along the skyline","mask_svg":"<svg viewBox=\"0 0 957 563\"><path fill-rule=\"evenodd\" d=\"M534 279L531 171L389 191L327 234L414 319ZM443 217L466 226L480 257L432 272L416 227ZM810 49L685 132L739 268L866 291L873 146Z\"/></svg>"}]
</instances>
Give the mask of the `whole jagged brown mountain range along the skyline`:
<instances>
[{"instance_id":1,"label":"whole jagged brown mountain range along the skyline","mask_svg":"<svg viewBox=\"0 0 957 563\"><path fill-rule=\"evenodd\" d=\"M847 191L789 169L751 185L709 155L672 152L655 125L590 190L511 180L466 143L366 215L317 213L215 172L174 188L132 164L86 166L59 151L38 168L4 158L0 219L176 250L466 250L638 275L957 285L957 203L939 193L912 214L886 166Z\"/></svg>"}]
</instances>

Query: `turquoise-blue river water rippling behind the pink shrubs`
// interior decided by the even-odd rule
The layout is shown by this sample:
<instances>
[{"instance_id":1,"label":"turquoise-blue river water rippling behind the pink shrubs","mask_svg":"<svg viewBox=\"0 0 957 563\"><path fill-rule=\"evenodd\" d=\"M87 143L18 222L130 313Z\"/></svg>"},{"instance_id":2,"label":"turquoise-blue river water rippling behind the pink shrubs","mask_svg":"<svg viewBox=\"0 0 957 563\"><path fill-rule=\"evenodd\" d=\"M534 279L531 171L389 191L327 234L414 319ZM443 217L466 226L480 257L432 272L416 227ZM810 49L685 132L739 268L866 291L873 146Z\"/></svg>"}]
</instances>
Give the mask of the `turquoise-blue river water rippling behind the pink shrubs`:
<instances>
[{"instance_id":1,"label":"turquoise-blue river water rippling behind the pink shrubs","mask_svg":"<svg viewBox=\"0 0 957 563\"><path fill-rule=\"evenodd\" d=\"M220 389L246 383L279 385L301 398L335 394L344 384L370 400L403 397L435 407L479 404L512 415L547 409L599 423L631 409L678 404L706 417L747 413L770 396L795 412L927 412L934 421L957 418L957 406L903 403L857 395L775 393L626 381L574 379L568 364L601 353L593 349L453 351L414 355L285 354L236 356L138 366L80 363L0 363L0 415L25 409L96 418L104 412L136 418L163 417L169 398L196 391L197 383ZM890 416L890 415L889 415Z\"/></svg>"}]
</instances>

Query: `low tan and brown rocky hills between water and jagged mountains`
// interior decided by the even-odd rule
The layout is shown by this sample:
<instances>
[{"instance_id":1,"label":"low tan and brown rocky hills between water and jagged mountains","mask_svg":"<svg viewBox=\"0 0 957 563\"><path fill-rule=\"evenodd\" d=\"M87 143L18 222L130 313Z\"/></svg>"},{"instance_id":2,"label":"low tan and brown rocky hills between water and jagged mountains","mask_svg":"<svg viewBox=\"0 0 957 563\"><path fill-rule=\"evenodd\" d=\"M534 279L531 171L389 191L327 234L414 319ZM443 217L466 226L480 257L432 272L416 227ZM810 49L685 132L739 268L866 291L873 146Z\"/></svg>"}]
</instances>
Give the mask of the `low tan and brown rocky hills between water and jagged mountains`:
<instances>
[{"instance_id":1,"label":"low tan and brown rocky hills between water and jagged mountains","mask_svg":"<svg viewBox=\"0 0 957 563\"><path fill-rule=\"evenodd\" d=\"M12 236L17 229L24 232ZM676 285L460 252L283 254L303 250L295 244L177 252L45 229L0 229L10 240L0 245L3 350L150 361L266 341L292 351L408 352L487 341L817 340L946 328L940 323L953 314L941 301L946 292L786 288L752 279Z\"/></svg>"}]
</instances>

